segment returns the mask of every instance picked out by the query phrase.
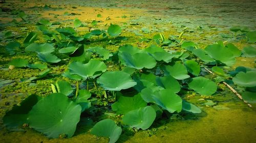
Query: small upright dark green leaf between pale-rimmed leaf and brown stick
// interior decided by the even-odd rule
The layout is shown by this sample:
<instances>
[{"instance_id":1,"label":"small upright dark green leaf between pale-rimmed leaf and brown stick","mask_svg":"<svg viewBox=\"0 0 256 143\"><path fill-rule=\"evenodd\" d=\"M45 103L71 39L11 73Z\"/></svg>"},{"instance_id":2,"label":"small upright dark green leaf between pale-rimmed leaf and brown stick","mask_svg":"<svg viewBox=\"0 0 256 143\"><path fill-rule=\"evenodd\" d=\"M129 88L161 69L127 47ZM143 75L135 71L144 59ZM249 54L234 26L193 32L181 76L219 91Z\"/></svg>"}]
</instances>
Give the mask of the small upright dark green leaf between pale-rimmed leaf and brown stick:
<instances>
[{"instance_id":1,"label":"small upright dark green leaf between pale-rimmed leaf and brown stick","mask_svg":"<svg viewBox=\"0 0 256 143\"><path fill-rule=\"evenodd\" d=\"M187 60L184 62L187 71L195 76L200 74L200 65L194 60Z\"/></svg>"}]
</instances>

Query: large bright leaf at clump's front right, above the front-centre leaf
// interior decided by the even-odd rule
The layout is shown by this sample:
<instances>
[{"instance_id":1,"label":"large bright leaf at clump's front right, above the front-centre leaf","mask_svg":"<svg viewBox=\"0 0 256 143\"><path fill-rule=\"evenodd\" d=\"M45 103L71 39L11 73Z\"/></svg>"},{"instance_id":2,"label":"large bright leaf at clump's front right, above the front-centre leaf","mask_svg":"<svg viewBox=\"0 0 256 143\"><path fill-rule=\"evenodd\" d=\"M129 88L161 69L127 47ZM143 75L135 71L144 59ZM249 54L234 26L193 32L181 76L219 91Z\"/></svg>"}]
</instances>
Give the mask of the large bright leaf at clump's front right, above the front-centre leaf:
<instances>
[{"instance_id":1,"label":"large bright leaf at clump's front right, above the front-centre leaf","mask_svg":"<svg viewBox=\"0 0 256 143\"><path fill-rule=\"evenodd\" d=\"M172 90L164 89L157 91L152 96L157 105L163 109L173 113L175 111L180 112L182 109L182 99L175 94Z\"/></svg>"}]
</instances>

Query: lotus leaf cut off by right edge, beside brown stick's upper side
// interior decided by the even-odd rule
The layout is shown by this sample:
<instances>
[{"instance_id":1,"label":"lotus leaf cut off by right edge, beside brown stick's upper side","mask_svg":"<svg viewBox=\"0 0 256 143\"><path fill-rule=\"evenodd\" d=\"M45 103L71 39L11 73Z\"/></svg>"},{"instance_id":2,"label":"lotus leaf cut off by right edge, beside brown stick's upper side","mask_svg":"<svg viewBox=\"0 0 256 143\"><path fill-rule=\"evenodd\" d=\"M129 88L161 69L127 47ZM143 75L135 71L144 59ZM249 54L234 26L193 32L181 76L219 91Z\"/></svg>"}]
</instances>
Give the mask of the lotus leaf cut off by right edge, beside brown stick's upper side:
<instances>
[{"instance_id":1,"label":"lotus leaf cut off by right edge, beside brown stick's upper side","mask_svg":"<svg viewBox=\"0 0 256 143\"><path fill-rule=\"evenodd\" d=\"M248 71L246 73L239 72L233 77L233 82L241 87L255 87L256 86L256 72Z\"/></svg>"}]
</instances>

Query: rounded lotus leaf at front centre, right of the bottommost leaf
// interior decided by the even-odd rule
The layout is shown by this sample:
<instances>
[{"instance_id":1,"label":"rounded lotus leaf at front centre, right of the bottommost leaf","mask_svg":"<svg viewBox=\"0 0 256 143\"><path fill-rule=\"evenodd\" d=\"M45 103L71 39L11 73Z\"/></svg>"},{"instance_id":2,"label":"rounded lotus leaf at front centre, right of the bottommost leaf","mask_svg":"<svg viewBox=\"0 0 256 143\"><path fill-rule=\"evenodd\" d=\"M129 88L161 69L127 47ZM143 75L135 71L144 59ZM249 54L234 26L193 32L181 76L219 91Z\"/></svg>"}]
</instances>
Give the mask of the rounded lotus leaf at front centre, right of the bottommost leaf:
<instances>
[{"instance_id":1,"label":"rounded lotus leaf at front centre, right of the bottommost leaf","mask_svg":"<svg viewBox=\"0 0 256 143\"><path fill-rule=\"evenodd\" d=\"M151 106L146 106L136 110L127 112L123 116L123 123L129 125L131 128L146 130L156 119L156 111Z\"/></svg>"}]
</instances>

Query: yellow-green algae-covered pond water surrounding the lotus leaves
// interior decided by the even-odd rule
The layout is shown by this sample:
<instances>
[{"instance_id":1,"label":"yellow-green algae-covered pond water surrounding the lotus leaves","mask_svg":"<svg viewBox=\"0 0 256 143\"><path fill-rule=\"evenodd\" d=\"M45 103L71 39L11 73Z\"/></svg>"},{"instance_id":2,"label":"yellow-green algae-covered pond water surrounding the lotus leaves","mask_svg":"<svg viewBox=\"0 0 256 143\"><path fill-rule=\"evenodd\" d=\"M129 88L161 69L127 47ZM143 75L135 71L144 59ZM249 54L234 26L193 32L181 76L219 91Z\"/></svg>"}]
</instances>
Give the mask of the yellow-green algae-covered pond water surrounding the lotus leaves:
<instances>
[{"instance_id":1,"label":"yellow-green algae-covered pond water surrounding the lotus leaves","mask_svg":"<svg viewBox=\"0 0 256 143\"><path fill-rule=\"evenodd\" d=\"M51 5L51 8L41 8L45 4ZM76 8L72 8L72 6ZM200 48L218 40L228 40L242 49L246 43L241 43L241 37L237 38L234 33L229 31L229 28L234 25L248 26L252 30L256 28L256 1L154 1L150 3L147 1L116 2L112 0L104 2L75 0L36 3L33 1L7 1L6 4L0 4L0 7L11 9L19 7L27 12L30 15L28 17L30 22L24 24L23 27L27 27L28 30L33 29L34 21L42 17L51 21L59 21L62 25L64 23L71 25L74 18L88 23L96 19L102 21L98 24L99 28L103 28L106 23L138 23L136 26L127 27L127 32L124 32L123 35L131 37L128 43L142 48L145 45L141 45L137 40L141 37L152 37L159 32L162 32L166 37L179 35L184 27L188 27L189 32L184 34L184 38L198 43ZM78 15L65 16L63 13L66 11ZM96 17L98 13L102 17ZM41 16L38 17L38 15ZM108 16L110 19L105 20ZM20 30L20 27L8 25L8 22L13 19L22 21L20 18L4 12L1 13L1 17L0 23L7 30L22 35L27 32L27 30ZM197 31L197 26L202 26L203 30ZM150 28L152 33L142 33L142 36L136 36L134 33L141 32L141 27ZM83 33L91 28L94 27L80 27L78 31ZM230 34L232 38L222 38L220 33ZM1 39L1 41L3 44L6 43L5 40ZM106 48L116 50L117 47L114 45ZM23 74L19 73L20 71L14 70L17 74L15 75L14 71L6 69L5 66L9 61L11 59L1 55L0 72L2 74L0 79L21 78L18 77ZM30 61L33 61L33 59L30 59ZM237 58L237 63L231 68L238 66L255 68L254 61L255 58ZM35 73L32 72L31 74ZM31 74L26 76L32 76ZM50 80L47 81L49 88L46 88L46 93L50 90L49 84L57 79ZM40 84L40 81L38 82L37 84ZM26 129L26 132L7 131L2 121L4 113L11 109L12 105L17 104L27 96L24 87L15 88L15 86L9 89L1 89L0 142L108 142L107 138L97 138L90 134L92 125L79 126L75 135L68 139L48 139L32 129ZM42 88L42 85L40 88ZM121 134L117 142L256 142L256 104L252 104L252 108L248 107L227 88L210 99L217 103L213 106L204 105L206 100L198 100L201 99L199 95L189 96L189 94L186 94L183 97L201 107L203 112L197 115L181 115L172 119L167 116L164 121L157 121L146 131L138 131L135 134L131 133L131 135ZM6 104L7 102L9 104Z\"/></svg>"}]
</instances>

